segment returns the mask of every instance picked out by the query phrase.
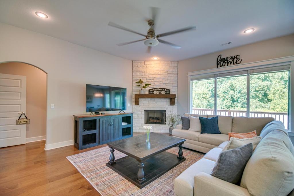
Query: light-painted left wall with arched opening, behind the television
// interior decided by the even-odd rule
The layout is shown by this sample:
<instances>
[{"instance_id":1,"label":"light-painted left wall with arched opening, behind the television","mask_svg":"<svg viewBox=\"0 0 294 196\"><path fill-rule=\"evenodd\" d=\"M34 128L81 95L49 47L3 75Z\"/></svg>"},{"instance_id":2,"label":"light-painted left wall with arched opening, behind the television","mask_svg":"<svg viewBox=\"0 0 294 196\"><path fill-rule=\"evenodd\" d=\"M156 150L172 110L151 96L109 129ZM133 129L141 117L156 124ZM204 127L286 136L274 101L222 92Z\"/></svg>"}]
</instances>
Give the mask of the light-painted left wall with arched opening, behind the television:
<instances>
[{"instance_id":1,"label":"light-painted left wall with arched opening, behind the television","mask_svg":"<svg viewBox=\"0 0 294 196\"><path fill-rule=\"evenodd\" d=\"M3 23L0 29L0 63L20 61L47 73L46 149L73 144L72 115L86 112L86 84L125 87L132 103L132 61Z\"/></svg>"}]
</instances>

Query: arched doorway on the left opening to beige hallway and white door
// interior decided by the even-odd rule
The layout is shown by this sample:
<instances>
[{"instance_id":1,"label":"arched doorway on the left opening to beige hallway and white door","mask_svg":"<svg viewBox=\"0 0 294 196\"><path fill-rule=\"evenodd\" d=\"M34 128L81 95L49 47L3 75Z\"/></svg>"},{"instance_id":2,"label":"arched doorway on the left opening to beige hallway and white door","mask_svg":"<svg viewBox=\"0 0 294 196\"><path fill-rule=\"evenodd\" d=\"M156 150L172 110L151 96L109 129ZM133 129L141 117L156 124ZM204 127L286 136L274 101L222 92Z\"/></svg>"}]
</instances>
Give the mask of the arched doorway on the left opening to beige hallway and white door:
<instances>
[{"instance_id":1,"label":"arched doorway on the left opening to beige hallway and white door","mask_svg":"<svg viewBox=\"0 0 294 196\"><path fill-rule=\"evenodd\" d=\"M2 113L6 113L6 116L0 116L0 119L2 118L0 125L1 123L3 125L1 126L2 129L0 129L0 143L2 140L0 147L20 144L19 142L10 141L13 141L14 138L21 137L20 130L23 125L14 125L15 120L23 112L19 102L17 102L19 99L18 96L21 97L22 95L20 95L21 93L9 92L6 89L12 89L11 91L13 91L13 88L18 88L13 85L17 83L17 78L21 78L21 76L26 76L24 77L26 78L26 82L24 82L26 85L26 95L24 97L25 105L23 108L26 110L26 116L30 119L30 124L25 125L25 143L46 140L47 73L28 63L5 62L0 63L0 74L4 78L2 82L0 79L0 94L2 94L2 98L0 96L0 110ZM16 80L10 79L10 77L16 78ZM4 142L5 140L7 141Z\"/></svg>"}]
</instances>

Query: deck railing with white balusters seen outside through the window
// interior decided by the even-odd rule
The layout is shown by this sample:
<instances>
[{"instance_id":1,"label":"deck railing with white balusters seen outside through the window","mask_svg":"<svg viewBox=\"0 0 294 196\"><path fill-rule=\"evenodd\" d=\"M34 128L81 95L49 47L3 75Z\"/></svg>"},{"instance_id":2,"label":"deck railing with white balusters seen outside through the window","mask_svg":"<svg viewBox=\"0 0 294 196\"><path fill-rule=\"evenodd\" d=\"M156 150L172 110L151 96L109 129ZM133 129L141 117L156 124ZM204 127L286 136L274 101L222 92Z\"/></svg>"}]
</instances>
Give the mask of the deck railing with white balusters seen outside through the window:
<instances>
[{"instance_id":1,"label":"deck railing with white balusters seen outside through the window","mask_svg":"<svg viewBox=\"0 0 294 196\"><path fill-rule=\"evenodd\" d=\"M193 114L214 115L214 109L193 108ZM222 116L246 116L244 110L217 110L217 115ZM288 127L288 113L286 112L258 112L251 111L250 117L273 117L275 120L280 120L284 123L286 129Z\"/></svg>"}]
</instances>

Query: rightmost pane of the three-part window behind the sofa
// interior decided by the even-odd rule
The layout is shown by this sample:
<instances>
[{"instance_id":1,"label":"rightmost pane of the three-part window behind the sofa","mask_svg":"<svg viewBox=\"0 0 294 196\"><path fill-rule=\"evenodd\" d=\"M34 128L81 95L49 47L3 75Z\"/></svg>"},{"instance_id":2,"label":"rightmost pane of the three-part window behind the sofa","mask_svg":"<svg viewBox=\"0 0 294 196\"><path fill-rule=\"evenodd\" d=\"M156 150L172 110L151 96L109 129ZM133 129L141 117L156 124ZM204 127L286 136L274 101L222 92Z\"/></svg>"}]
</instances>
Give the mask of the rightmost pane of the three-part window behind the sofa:
<instances>
[{"instance_id":1,"label":"rightmost pane of the three-part window behind the sofa","mask_svg":"<svg viewBox=\"0 0 294 196\"><path fill-rule=\"evenodd\" d=\"M250 77L250 117L273 117L288 128L289 71Z\"/></svg>"}]
</instances>

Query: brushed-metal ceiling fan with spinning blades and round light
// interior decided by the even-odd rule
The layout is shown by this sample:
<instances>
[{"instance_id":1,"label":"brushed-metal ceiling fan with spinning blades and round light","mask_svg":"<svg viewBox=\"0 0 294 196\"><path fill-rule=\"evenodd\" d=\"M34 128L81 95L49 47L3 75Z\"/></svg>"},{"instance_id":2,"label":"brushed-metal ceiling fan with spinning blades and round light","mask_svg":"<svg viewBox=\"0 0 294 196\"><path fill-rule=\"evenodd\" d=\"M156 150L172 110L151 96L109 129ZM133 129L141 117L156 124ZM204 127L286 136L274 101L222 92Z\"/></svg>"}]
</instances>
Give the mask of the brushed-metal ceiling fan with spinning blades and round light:
<instances>
[{"instance_id":1,"label":"brushed-metal ceiling fan with spinning blades and round light","mask_svg":"<svg viewBox=\"0 0 294 196\"><path fill-rule=\"evenodd\" d=\"M144 41L144 44L146 46L148 46L147 51L146 51L147 53L150 53L151 52L151 47L156 46L159 42L167 44L169 46L172 46L173 48L179 49L179 48L181 48L181 46L178 46L176 44L173 44L173 43L170 43L168 41L164 41L164 40L158 39L158 38L168 36L168 35L172 35L172 34L176 34L176 33L181 33L183 31L189 31L189 30L195 30L196 29L196 26L188 26L188 27L185 27L185 28L182 28L182 29L177 29L177 30L174 30L174 31L169 31L169 32L166 32L166 33L161 33L161 34L156 35L155 31L154 31L154 29L152 27L154 27L154 24L155 24L154 21L156 21L156 17L158 16L159 8L151 7L150 9L151 9L151 18L152 19L148 20L148 25L150 26L150 29L147 31L147 35L144 35L142 33L138 33L138 32L133 31L131 29L127 29L126 27L120 26L120 25L115 24L113 22L108 23L108 26L112 26L112 27L115 27L115 28L118 28L118 29L121 29L121 30L124 30L124 31L128 31L128 32L131 32L131 33L136 33L138 35L141 35L141 36L145 37L144 39L140 39L140 40L136 40L136 41L118 43L117 44L118 46L124 46L124 45L130 44L130 43L135 43L135 42L138 42L138 41Z\"/></svg>"}]
</instances>

